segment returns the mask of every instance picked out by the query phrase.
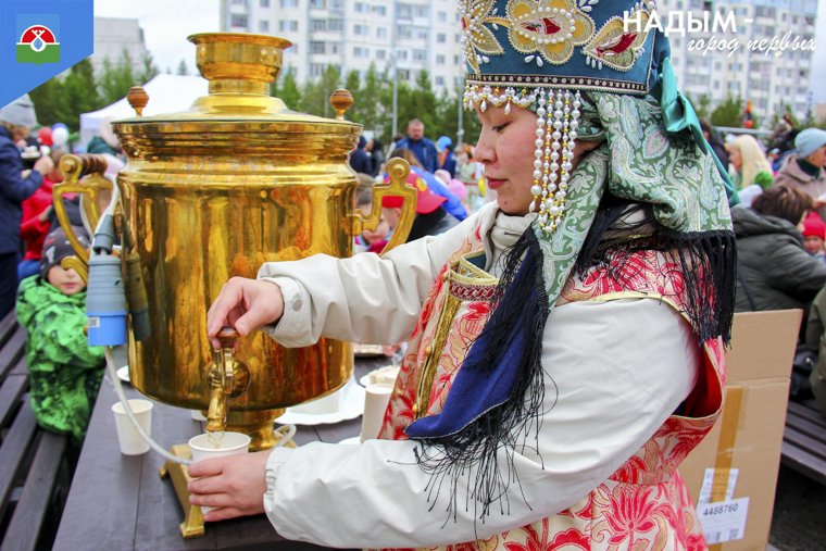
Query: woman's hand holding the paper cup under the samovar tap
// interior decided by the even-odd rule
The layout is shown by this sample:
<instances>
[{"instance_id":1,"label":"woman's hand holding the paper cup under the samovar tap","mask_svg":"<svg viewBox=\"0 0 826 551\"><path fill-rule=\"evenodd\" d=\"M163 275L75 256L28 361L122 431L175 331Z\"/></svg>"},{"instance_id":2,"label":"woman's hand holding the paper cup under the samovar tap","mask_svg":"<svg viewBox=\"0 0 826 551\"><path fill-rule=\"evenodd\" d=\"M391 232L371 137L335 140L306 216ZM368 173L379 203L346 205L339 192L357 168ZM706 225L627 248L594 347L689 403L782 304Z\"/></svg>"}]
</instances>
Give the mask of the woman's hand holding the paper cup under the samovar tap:
<instances>
[{"instance_id":1,"label":"woman's hand holding the paper cup under the samovar tap","mask_svg":"<svg viewBox=\"0 0 826 551\"><path fill-rule=\"evenodd\" d=\"M189 502L215 508L208 522L264 512L266 459L270 450L199 461L189 466Z\"/></svg>"}]
</instances>

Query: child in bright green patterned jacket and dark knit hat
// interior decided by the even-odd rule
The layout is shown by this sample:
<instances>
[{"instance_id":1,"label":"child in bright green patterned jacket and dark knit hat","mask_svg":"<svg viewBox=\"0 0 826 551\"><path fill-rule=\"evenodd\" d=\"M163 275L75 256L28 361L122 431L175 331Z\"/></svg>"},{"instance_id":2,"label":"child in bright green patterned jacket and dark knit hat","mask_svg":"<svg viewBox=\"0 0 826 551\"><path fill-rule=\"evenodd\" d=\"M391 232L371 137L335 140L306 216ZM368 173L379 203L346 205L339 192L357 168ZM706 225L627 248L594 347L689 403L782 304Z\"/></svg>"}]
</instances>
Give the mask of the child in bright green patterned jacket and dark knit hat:
<instances>
[{"instance_id":1,"label":"child in bright green patterned jacket and dark knit hat","mask_svg":"<svg viewBox=\"0 0 826 551\"><path fill-rule=\"evenodd\" d=\"M88 248L83 228L73 228ZM63 229L43 242L40 274L24 279L17 296L17 320L26 328L26 366L32 409L47 430L67 434L79 450L98 396L103 347L90 347L86 327L86 285L61 261L74 254Z\"/></svg>"}]
</instances>

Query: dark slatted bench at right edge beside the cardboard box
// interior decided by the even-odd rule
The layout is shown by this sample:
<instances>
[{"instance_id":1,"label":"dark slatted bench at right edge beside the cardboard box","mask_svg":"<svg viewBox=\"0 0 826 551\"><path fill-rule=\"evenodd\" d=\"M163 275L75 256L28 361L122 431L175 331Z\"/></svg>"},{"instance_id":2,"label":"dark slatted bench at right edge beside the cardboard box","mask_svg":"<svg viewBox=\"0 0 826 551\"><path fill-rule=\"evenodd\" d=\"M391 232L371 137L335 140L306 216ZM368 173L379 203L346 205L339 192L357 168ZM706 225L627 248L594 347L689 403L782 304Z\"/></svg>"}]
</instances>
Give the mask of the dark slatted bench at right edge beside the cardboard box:
<instances>
[{"instance_id":1,"label":"dark slatted bench at right edge beside the cardboard box","mask_svg":"<svg viewBox=\"0 0 826 551\"><path fill-rule=\"evenodd\" d=\"M780 462L826 485L826 417L814 400L789 402Z\"/></svg>"}]
</instances>

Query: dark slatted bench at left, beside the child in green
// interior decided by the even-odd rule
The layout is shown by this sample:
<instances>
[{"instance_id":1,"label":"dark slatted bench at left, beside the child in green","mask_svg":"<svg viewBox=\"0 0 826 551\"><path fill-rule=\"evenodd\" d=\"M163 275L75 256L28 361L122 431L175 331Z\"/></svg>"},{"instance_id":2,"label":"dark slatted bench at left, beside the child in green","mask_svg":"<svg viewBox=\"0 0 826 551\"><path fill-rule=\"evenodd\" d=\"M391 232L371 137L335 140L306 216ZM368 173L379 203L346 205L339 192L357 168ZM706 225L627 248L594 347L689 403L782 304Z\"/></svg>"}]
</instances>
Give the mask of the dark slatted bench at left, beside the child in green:
<instances>
[{"instance_id":1,"label":"dark slatted bench at left, beside the child in green","mask_svg":"<svg viewBox=\"0 0 826 551\"><path fill-rule=\"evenodd\" d=\"M25 342L12 311L0 322L0 551L51 549L71 484L67 438L29 406Z\"/></svg>"}]
</instances>

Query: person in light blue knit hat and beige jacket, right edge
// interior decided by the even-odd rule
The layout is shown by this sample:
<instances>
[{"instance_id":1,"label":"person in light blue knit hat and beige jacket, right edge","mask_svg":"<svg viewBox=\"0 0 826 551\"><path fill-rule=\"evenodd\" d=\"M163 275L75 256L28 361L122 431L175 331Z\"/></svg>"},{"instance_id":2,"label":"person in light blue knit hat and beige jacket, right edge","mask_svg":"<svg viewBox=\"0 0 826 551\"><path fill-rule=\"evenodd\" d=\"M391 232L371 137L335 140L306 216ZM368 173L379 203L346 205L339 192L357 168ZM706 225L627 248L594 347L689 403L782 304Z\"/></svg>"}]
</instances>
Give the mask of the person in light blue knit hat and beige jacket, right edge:
<instances>
[{"instance_id":1,"label":"person in light blue knit hat and beige jacket, right edge","mask_svg":"<svg viewBox=\"0 0 826 551\"><path fill-rule=\"evenodd\" d=\"M821 218L826 220L826 130L806 128L794 138L797 154L786 158L775 175L776 186L802 189L815 200Z\"/></svg>"}]
</instances>

